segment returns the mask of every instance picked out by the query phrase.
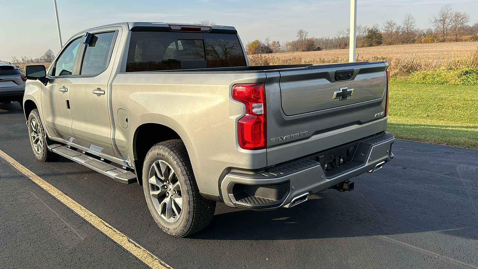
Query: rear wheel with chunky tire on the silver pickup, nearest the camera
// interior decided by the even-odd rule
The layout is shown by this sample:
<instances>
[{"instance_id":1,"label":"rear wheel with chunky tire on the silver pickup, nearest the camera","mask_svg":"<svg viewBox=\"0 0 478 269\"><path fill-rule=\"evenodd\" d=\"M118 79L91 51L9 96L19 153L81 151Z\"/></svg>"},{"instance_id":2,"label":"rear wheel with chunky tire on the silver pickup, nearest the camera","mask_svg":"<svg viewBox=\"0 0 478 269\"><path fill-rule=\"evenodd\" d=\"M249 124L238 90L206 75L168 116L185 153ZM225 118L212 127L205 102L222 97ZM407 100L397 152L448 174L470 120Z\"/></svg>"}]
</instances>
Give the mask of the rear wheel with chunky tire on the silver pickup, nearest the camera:
<instances>
[{"instance_id":1,"label":"rear wheel with chunky tire on the silver pickup, nearest the camera","mask_svg":"<svg viewBox=\"0 0 478 269\"><path fill-rule=\"evenodd\" d=\"M216 202L199 193L182 140L152 146L142 173L146 203L164 232L184 237L199 232L212 221Z\"/></svg>"}]
</instances>

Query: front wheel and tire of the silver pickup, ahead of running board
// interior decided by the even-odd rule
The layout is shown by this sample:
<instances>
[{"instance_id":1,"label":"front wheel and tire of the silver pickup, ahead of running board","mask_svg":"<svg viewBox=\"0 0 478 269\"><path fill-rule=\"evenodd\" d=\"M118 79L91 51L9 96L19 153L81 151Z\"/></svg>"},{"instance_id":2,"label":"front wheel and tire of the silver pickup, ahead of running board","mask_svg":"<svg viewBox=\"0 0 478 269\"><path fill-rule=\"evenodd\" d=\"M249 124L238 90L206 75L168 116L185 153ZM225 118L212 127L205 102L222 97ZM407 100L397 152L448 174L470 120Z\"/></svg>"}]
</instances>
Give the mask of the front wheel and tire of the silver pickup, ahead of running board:
<instances>
[{"instance_id":1,"label":"front wheel and tire of the silver pickup, ahead of running board","mask_svg":"<svg viewBox=\"0 0 478 269\"><path fill-rule=\"evenodd\" d=\"M50 139L48 139L43 129L38 109L32 110L28 116L28 134L30 134L30 145L32 146L33 154L35 154L39 161L51 162L58 159L58 154L48 150Z\"/></svg>"}]
</instances>

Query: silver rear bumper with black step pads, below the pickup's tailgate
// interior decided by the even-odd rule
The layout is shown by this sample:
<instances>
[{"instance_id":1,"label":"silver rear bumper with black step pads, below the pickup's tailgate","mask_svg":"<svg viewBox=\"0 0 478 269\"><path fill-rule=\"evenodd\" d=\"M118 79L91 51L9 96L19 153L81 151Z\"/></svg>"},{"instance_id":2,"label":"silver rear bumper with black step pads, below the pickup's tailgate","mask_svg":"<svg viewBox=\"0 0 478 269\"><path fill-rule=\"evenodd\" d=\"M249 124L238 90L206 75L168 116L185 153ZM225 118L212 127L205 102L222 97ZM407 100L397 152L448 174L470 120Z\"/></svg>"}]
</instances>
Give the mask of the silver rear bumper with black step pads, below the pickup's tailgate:
<instances>
[{"instance_id":1,"label":"silver rear bumper with black step pads, below the pickup's tailgate","mask_svg":"<svg viewBox=\"0 0 478 269\"><path fill-rule=\"evenodd\" d=\"M314 159L306 158L273 168L261 174L228 173L221 182L221 192L228 206L265 211L289 204L298 196L328 189L340 182L373 171L393 158L392 134L385 133L361 141L352 161L326 176Z\"/></svg>"}]
</instances>

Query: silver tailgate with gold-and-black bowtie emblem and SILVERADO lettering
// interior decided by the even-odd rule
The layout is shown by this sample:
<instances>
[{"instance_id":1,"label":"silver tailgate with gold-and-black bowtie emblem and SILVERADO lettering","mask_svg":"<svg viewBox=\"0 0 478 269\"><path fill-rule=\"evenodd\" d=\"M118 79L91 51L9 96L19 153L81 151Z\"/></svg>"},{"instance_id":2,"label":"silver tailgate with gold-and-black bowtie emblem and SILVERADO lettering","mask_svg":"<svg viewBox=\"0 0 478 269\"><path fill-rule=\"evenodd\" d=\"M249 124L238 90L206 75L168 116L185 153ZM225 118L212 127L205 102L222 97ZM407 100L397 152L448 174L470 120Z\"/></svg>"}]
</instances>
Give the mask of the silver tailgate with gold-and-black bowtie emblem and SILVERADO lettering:
<instances>
[{"instance_id":1,"label":"silver tailgate with gold-and-black bowtie emblem and SILVERADO lettering","mask_svg":"<svg viewBox=\"0 0 478 269\"><path fill-rule=\"evenodd\" d=\"M383 132L387 68L363 62L267 73L268 165ZM336 81L340 74L346 79Z\"/></svg>"}]
</instances>

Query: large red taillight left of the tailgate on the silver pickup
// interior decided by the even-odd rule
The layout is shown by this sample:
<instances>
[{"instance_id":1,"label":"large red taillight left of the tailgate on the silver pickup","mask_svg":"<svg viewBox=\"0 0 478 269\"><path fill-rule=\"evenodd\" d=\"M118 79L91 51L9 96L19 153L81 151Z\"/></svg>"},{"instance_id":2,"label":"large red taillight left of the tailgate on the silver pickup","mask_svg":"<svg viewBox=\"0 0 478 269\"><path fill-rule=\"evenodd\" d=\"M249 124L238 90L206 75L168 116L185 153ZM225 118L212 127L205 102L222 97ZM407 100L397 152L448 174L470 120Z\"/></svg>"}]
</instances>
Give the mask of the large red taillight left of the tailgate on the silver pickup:
<instances>
[{"instance_id":1,"label":"large red taillight left of the tailgate on the silver pickup","mask_svg":"<svg viewBox=\"0 0 478 269\"><path fill-rule=\"evenodd\" d=\"M264 84L234 85L232 98L246 105L246 115L238 123L239 146L243 149L266 148Z\"/></svg>"}]
</instances>

